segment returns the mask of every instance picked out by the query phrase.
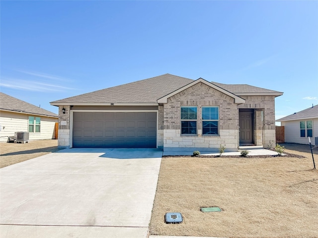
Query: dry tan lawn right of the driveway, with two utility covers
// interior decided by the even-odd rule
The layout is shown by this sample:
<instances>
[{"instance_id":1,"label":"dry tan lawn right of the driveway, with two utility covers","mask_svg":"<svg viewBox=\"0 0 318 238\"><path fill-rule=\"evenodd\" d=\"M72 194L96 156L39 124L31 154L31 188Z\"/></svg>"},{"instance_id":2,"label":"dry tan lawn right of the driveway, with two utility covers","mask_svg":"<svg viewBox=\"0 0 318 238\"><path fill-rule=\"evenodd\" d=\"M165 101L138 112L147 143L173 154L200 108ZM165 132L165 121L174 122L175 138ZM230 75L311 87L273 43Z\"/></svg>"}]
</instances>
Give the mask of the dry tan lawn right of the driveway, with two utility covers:
<instances>
[{"instance_id":1,"label":"dry tan lawn right of the driveway, with two utility covers","mask_svg":"<svg viewBox=\"0 0 318 238\"><path fill-rule=\"evenodd\" d=\"M311 154L282 145L306 158L162 158L150 233L318 238L318 170ZM222 211L200 211L210 206ZM167 212L181 212L183 222L165 224Z\"/></svg>"}]
</instances>

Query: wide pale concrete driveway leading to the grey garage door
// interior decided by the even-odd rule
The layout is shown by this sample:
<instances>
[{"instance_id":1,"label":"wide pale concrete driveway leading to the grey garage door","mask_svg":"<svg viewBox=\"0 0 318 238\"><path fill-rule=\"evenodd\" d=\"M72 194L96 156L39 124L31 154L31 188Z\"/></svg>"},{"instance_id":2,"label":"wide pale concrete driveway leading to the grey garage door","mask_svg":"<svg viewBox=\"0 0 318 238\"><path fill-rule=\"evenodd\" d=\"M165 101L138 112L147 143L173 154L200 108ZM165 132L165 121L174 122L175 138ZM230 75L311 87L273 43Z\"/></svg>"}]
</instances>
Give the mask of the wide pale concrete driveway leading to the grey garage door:
<instances>
[{"instance_id":1,"label":"wide pale concrete driveway leading to the grey garage door","mask_svg":"<svg viewBox=\"0 0 318 238\"><path fill-rule=\"evenodd\" d=\"M146 238L161 156L64 149L0 169L0 237Z\"/></svg>"}]
</instances>

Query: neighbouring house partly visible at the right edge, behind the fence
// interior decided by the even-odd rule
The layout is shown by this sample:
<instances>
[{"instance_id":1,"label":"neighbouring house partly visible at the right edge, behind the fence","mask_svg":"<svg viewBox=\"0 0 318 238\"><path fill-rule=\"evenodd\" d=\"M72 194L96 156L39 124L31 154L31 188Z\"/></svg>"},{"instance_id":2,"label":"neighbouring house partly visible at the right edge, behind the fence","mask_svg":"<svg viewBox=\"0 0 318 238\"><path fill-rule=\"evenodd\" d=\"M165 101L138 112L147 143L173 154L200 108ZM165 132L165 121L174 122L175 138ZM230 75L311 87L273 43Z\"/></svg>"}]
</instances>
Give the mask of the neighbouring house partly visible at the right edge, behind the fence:
<instances>
[{"instance_id":1,"label":"neighbouring house partly visible at the right edge, behind the fence","mask_svg":"<svg viewBox=\"0 0 318 238\"><path fill-rule=\"evenodd\" d=\"M311 143L318 145L315 143L315 137L318 137L318 105L276 121L285 127L285 142L309 144L309 136Z\"/></svg>"}]
</instances>

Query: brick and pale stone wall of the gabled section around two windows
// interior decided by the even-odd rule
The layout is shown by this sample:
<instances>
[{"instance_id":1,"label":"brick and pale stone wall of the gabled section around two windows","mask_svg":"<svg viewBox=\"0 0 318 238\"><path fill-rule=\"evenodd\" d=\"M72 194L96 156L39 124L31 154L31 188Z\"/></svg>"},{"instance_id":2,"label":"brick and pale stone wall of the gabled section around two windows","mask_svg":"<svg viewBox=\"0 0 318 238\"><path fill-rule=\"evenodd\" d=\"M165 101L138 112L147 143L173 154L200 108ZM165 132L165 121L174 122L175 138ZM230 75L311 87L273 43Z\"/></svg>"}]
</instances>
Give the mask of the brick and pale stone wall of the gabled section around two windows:
<instances>
[{"instance_id":1,"label":"brick and pale stone wall of the gabled section around two windows","mask_svg":"<svg viewBox=\"0 0 318 238\"><path fill-rule=\"evenodd\" d=\"M181 135L181 106L197 107L197 134ZM219 106L219 135L202 135L202 107ZM168 98L164 104L164 151L218 151L220 144L226 151L238 150L239 110L234 99L204 83Z\"/></svg>"}]
</instances>

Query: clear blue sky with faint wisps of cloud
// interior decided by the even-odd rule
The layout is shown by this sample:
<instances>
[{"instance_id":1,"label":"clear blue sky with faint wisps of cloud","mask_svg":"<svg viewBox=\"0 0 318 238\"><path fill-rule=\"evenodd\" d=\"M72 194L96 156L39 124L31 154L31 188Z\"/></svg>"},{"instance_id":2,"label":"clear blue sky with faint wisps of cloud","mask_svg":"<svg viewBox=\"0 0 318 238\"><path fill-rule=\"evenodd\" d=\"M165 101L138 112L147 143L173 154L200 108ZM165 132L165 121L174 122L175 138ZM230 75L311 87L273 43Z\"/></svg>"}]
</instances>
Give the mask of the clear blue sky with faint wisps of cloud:
<instances>
[{"instance_id":1,"label":"clear blue sky with faint wisps of cloud","mask_svg":"<svg viewBox=\"0 0 318 238\"><path fill-rule=\"evenodd\" d=\"M170 73L318 104L318 1L1 1L0 90L49 102Z\"/></svg>"}]
</instances>

